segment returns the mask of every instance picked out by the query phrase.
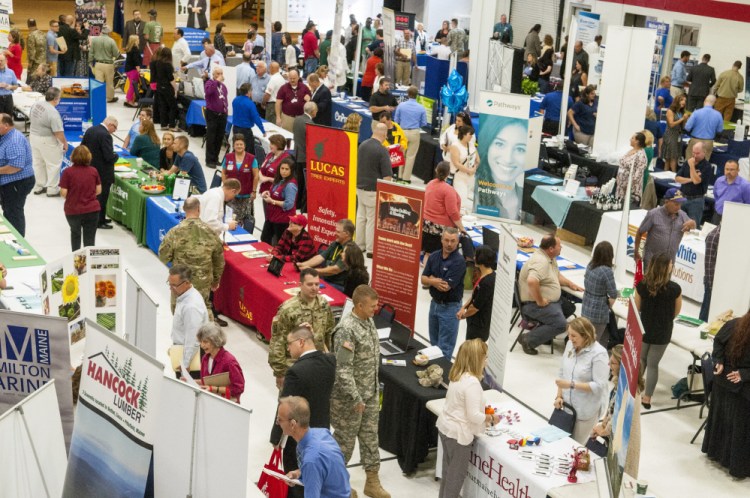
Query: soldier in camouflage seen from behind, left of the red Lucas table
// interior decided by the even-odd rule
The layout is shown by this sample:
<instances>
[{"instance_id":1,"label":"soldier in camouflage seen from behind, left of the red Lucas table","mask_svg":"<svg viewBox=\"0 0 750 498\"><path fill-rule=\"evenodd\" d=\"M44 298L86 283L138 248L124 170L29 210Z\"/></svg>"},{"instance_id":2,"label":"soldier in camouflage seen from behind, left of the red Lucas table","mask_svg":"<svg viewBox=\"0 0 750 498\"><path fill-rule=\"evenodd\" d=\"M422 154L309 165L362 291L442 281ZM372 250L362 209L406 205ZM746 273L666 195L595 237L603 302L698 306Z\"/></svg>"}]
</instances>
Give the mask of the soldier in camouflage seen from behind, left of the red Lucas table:
<instances>
[{"instance_id":1,"label":"soldier in camouflage seen from behind, left of the red Lucas table","mask_svg":"<svg viewBox=\"0 0 750 498\"><path fill-rule=\"evenodd\" d=\"M211 228L200 219L200 201L188 197L183 205L185 219L172 228L159 246L162 263L183 264L192 270L193 286L201 293L213 320L209 293L219 287L224 272L224 244ZM172 313L175 299L172 296Z\"/></svg>"}]
</instances>

